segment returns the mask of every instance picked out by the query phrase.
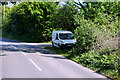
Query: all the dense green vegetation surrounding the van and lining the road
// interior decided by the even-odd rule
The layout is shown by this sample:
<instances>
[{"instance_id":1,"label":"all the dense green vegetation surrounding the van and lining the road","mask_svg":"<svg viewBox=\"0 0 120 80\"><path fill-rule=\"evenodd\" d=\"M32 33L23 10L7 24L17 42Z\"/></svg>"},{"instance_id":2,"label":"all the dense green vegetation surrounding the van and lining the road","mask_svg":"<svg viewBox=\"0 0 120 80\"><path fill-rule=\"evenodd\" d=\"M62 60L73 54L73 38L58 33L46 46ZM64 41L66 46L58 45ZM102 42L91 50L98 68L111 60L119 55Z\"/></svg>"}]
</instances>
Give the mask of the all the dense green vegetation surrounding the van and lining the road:
<instances>
[{"instance_id":1,"label":"all the dense green vegetation surrounding the van and lining the road","mask_svg":"<svg viewBox=\"0 0 120 80\"><path fill-rule=\"evenodd\" d=\"M71 50L47 48L106 76L119 79L118 2L20 3L6 10L3 36L26 42L51 40L53 30L69 30L77 44ZM60 52L58 52L60 51Z\"/></svg>"}]
</instances>

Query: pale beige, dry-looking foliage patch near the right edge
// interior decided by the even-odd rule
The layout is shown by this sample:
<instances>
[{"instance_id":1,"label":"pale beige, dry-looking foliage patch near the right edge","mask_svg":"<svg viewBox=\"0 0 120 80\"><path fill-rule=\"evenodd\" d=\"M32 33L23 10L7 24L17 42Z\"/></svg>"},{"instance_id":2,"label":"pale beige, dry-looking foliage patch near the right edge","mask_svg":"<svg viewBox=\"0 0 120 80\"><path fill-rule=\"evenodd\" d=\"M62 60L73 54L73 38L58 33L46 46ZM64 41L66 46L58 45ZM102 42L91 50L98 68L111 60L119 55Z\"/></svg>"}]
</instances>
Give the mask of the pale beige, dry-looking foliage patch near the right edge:
<instances>
[{"instance_id":1,"label":"pale beige, dry-looking foliage patch near the right edge","mask_svg":"<svg viewBox=\"0 0 120 80\"><path fill-rule=\"evenodd\" d=\"M113 33L113 31L111 31L110 29L96 29L93 35L96 36L96 42L92 47L94 48L94 50L103 49L107 47L118 48L117 33Z\"/></svg>"}]
</instances>

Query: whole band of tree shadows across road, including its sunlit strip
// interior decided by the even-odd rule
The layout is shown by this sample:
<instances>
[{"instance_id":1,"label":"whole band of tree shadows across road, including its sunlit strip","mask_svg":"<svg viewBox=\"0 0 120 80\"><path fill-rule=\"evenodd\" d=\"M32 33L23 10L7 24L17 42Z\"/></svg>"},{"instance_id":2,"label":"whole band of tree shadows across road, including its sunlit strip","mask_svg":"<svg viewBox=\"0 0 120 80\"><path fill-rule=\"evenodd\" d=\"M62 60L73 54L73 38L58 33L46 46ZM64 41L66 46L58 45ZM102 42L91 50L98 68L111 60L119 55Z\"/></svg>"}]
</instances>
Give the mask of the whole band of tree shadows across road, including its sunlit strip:
<instances>
[{"instance_id":1,"label":"whole band of tree shadows across road, including its sunlit strip","mask_svg":"<svg viewBox=\"0 0 120 80\"><path fill-rule=\"evenodd\" d=\"M23 43L19 41L12 41L10 39L2 39L2 51L9 51L9 52L19 52L22 51L25 54L36 54L36 53L41 53L41 54L55 54L52 51L44 49L44 47L51 46L51 44L40 44L40 43ZM6 56L1 55L1 56ZM43 55L42 55L43 56ZM51 57L51 58L57 58L57 59L65 59L61 56L46 56L44 57Z\"/></svg>"}]
</instances>

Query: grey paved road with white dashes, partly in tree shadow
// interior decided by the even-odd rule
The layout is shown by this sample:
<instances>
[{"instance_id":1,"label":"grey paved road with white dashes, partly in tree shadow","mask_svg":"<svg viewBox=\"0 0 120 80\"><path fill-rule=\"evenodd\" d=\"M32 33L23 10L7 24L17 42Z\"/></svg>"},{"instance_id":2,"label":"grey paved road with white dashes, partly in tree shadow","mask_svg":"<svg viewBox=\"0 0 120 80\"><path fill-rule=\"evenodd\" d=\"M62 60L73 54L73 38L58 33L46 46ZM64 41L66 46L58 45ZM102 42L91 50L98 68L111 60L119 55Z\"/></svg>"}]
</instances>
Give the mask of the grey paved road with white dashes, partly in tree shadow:
<instances>
[{"instance_id":1,"label":"grey paved road with white dashes, partly in tree shadow","mask_svg":"<svg viewBox=\"0 0 120 80\"><path fill-rule=\"evenodd\" d=\"M3 78L106 78L69 59L43 49L51 44L2 38Z\"/></svg>"}]
</instances>

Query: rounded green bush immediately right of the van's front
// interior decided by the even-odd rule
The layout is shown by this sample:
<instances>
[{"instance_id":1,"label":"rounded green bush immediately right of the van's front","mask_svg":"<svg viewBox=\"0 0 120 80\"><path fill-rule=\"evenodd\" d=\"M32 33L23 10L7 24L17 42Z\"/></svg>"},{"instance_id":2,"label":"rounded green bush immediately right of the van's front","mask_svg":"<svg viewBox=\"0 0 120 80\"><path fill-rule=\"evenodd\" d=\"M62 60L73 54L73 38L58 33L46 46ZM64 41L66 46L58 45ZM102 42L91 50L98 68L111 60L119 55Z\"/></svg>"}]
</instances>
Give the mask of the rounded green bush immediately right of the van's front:
<instances>
[{"instance_id":1,"label":"rounded green bush immediately right of the van's front","mask_svg":"<svg viewBox=\"0 0 120 80\"><path fill-rule=\"evenodd\" d=\"M77 39L77 44L75 45L74 52L76 54L88 51L96 41L96 37L93 35L95 30L95 25L91 24L89 21L84 21L84 24L77 27L74 33L74 37Z\"/></svg>"}]
</instances>

